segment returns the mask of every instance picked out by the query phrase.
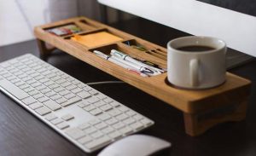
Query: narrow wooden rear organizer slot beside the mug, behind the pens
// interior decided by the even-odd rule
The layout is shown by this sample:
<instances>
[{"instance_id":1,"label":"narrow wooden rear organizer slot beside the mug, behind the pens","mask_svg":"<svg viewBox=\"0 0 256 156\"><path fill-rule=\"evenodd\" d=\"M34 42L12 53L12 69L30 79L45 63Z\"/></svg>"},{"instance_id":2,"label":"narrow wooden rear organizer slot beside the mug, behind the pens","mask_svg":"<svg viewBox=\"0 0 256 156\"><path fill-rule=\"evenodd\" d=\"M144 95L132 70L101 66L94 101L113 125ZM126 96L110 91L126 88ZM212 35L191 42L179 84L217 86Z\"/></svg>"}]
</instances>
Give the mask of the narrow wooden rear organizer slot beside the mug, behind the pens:
<instances>
[{"instance_id":1,"label":"narrow wooden rear organizer slot beside the mug, behind the pens","mask_svg":"<svg viewBox=\"0 0 256 156\"><path fill-rule=\"evenodd\" d=\"M157 57L161 60L166 61L167 60L167 54L166 51L160 48L155 48L152 43L147 42L140 42L135 39L127 40L123 42L126 46L129 46L133 49L137 49L139 51L142 51L144 53L147 53L148 55L153 55L154 57Z\"/></svg>"}]
</instances>

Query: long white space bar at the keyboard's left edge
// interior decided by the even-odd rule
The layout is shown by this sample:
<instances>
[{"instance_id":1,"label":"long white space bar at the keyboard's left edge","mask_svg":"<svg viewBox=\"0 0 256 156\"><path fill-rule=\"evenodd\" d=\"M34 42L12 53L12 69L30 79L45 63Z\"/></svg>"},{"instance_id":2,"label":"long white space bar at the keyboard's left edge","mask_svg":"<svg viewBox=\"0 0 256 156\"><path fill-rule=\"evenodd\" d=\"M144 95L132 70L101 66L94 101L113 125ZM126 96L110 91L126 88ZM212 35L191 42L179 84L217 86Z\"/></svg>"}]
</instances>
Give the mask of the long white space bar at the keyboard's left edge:
<instances>
[{"instance_id":1,"label":"long white space bar at the keyboard's left edge","mask_svg":"<svg viewBox=\"0 0 256 156\"><path fill-rule=\"evenodd\" d=\"M5 79L0 80L0 86L4 90L7 90L11 95L14 95L19 100L29 97L29 95L26 92L24 92L23 90L20 90L20 88L15 86L15 84L11 84L9 81Z\"/></svg>"}]
</instances>

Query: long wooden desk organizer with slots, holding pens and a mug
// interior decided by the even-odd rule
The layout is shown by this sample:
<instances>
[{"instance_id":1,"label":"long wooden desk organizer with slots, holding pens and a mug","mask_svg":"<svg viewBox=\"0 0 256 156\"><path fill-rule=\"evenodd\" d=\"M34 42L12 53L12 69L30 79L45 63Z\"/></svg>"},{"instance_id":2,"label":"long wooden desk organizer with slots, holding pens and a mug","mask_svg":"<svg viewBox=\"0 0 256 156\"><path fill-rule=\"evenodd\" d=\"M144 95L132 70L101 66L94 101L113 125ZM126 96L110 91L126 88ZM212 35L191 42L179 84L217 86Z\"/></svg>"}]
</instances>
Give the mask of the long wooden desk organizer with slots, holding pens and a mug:
<instances>
[{"instance_id":1,"label":"long wooden desk organizer with slots, holding pens and a mug","mask_svg":"<svg viewBox=\"0 0 256 156\"><path fill-rule=\"evenodd\" d=\"M71 23L82 28L83 31L79 32L80 35L106 31L123 38L123 41L88 48L71 40L70 38L73 35L57 37L45 31L49 28ZM141 38L85 17L61 20L44 26L38 26L34 32L38 38L41 55L50 54L51 49L48 49L45 44L49 43L55 46L55 48L61 49L92 66L96 66L102 71L108 72L108 74L147 92L149 95L153 95L161 101L165 101L172 107L177 107L177 109L183 112L185 130L190 136L201 135L216 124L227 121L240 121L246 117L247 97L250 92L251 83L245 78L240 78L227 72L226 82L216 88L209 90L178 90L166 84L166 73L144 78L112 62L103 60L92 53L94 49L98 49L106 54L109 54L111 49L119 49L128 55L152 61L166 68L166 49L159 45L149 43ZM148 52L145 53L131 48L124 43L125 41L140 43L148 49ZM157 55L154 53L154 50L160 51L162 55ZM166 122L168 122L168 118L166 118Z\"/></svg>"}]
</instances>

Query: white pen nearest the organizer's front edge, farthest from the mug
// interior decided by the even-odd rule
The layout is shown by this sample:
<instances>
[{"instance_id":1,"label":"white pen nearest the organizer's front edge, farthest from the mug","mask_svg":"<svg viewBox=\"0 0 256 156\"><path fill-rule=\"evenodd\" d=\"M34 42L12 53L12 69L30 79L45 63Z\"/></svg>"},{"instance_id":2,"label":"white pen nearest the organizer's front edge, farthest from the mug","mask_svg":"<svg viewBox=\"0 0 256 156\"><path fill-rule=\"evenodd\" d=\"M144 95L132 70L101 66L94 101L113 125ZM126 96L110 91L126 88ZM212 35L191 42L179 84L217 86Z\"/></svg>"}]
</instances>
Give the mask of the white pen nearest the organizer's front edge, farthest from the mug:
<instances>
[{"instance_id":1,"label":"white pen nearest the organizer's front edge, farthest from the mug","mask_svg":"<svg viewBox=\"0 0 256 156\"><path fill-rule=\"evenodd\" d=\"M102 57L102 58L105 59L105 60L111 61L112 63L114 63L114 64L116 64L116 65L118 65L118 66L124 67L125 69L127 69L127 70L130 71L130 72L136 73L136 74L138 74L138 75L140 75L140 76L142 76L142 77L148 77L147 74L145 74L145 73L143 73L143 72L139 72L139 71L137 71L136 69L132 69L131 66L128 66L128 65L126 65L126 64L124 64L124 63L122 63L122 62L120 62L120 61L117 61L117 60L113 59L112 57L110 57L109 55L105 55L105 54L102 53L101 51L94 50L93 53L96 54L96 55L98 55L98 56L100 56L100 57Z\"/></svg>"}]
</instances>

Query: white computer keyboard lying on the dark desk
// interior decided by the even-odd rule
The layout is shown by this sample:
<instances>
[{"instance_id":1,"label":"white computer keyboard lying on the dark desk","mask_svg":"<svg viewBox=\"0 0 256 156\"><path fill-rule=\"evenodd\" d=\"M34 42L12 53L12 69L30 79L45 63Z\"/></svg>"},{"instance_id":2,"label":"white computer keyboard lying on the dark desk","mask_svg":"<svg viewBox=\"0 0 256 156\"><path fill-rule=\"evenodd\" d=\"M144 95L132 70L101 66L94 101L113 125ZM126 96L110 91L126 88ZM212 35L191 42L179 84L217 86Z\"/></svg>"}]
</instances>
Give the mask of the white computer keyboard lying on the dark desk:
<instances>
[{"instance_id":1,"label":"white computer keyboard lying on the dark desk","mask_svg":"<svg viewBox=\"0 0 256 156\"><path fill-rule=\"evenodd\" d=\"M0 90L87 153L154 124L30 54L0 63Z\"/></svg>"}]
</instances>

